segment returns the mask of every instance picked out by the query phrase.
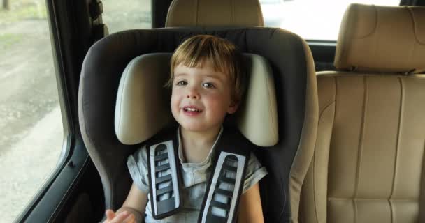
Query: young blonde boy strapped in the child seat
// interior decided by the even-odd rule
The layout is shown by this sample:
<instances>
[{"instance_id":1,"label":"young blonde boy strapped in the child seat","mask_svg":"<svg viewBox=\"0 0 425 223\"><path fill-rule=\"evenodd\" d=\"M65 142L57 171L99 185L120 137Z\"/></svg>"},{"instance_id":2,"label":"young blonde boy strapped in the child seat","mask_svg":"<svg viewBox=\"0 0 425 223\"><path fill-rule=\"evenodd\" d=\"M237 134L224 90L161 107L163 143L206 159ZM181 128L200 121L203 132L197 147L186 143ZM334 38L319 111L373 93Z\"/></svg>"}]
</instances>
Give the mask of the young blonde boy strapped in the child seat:
<instances>
[{"instance_id":1,"label":"young blonde boy strapped in the child seat","mask_svg":"<svg viewBox=\"0 0 425 223\"><path fill-rule=\"evenodd\" d=\"M147 152L145 146L129 156L127 165L134 182L122 208L106 211L105 222L197 222L215 142L222 133L226 114L233 114L245 89L238 54L229 41L200 35L187 39L171 58L171 112L178 128L182 182L182 209L154 220L148 203ZM267 171L253 153L247 164L239 222L264 222L258 181ZM150 201L149 201L150 202ZM144 215L146 215L144 217Z\"/></svg>"}]
</instances>

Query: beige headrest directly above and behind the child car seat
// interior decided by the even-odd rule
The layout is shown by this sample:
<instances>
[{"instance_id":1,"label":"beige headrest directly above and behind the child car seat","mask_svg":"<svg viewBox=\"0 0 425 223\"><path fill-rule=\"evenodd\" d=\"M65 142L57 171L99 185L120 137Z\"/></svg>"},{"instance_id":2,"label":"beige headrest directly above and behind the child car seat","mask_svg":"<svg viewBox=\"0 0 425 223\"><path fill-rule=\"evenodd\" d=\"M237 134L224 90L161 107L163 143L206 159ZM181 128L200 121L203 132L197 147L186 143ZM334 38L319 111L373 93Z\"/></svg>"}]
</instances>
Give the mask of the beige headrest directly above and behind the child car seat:
<instances>
[{"instance_id":1,"label":"beige headrest directly above and behind the child car seat","mask_svg":"<svg viewBox=\"0 0 425 223\"><path fill-rule=\"evenodd\" d=\"M165 26L264 26L264 21L258 0L173 0Z\"/></svg>"}]
</instances>

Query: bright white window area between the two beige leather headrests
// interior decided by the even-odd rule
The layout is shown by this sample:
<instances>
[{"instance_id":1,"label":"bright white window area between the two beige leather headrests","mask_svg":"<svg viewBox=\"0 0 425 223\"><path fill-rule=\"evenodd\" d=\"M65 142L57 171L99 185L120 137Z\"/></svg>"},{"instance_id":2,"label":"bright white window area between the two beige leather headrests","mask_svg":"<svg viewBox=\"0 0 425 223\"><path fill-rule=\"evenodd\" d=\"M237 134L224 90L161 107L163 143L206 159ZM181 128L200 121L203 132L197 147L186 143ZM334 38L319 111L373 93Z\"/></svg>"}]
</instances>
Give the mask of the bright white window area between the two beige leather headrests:
<instances>
[{"instance_id":1,"label":"bright white window area between the two beige leather headrests","mask_svg":"<svg viewBox=\"0 0 425 223\"><path fill-rule=\"evenodd\" d=\"M336 40L350 3L398 6L400 0L260 0L265 26L287 29L307 40Z\"/></svg>"}]
</instances>

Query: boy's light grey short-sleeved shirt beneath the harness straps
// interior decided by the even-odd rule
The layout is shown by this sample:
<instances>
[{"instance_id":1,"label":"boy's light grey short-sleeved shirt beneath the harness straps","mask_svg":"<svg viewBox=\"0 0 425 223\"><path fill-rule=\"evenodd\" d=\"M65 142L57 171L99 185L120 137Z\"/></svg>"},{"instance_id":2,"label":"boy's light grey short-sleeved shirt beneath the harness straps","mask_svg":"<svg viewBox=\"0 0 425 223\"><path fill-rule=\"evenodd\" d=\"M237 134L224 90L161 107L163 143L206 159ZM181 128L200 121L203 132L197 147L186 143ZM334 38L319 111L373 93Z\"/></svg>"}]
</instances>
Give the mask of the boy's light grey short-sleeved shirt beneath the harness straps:
<instances>
[{"instance_id":1,"label":"boy's light grey short-sleeved shirt beneath the harness straps","mask_svg":"<svg viewBox=\"0 0 425 223\"><path fill-rule=\"evenodd\" d=\"M215 144L222 134L220 130L214 145L212 146L210 153L203 162L200 163L189 163L185 162L182 147L180 146L180 134L177 131L179 148L178 157L180 160L182 179L184 188L180 188L182 196L182 208L178 213L165 217L161 220L155 220L152 217L152 210L149 195L146 209L145 209L145 223L150 222L197 222L200 208L202 206L203 196L206 192L206 185L208 177L212 172L212 161L211 157L215 153ZM133 178L134 184L137 185L138 189L146 194L149 193L149 179L147 178L147 153L146 147L138 149L133 155L130 155L127 159L127 166ZM247 164L245 171L245 182L243 183L243 192L245 193L250 187L255 185L261 178L266 176L266 167L262 167L257 157L253 153L250 155L250 160Z\"/></svg>"}]
</instances>

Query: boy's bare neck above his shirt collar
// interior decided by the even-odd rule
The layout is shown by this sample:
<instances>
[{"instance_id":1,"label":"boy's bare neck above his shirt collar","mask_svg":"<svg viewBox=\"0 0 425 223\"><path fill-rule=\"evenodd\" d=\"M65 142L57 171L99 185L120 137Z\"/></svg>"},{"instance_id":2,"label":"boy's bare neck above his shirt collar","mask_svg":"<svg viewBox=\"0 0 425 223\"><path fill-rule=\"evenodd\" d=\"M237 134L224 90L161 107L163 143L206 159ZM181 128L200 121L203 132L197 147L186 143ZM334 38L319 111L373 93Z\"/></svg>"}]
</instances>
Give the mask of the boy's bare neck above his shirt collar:
<instances>
[{"instance_id":1,"label":"boy's bare neck above his shirt collar","mask_svg":"<svg viewBox=\"0 0 425 223\"><path fill-rule=\"evenodd\" d=\"M210 152L221 126L208 132L192 132L180 128L183 155L186 162L199 163L206 159Z\"/></svg>"}]
</instances>

